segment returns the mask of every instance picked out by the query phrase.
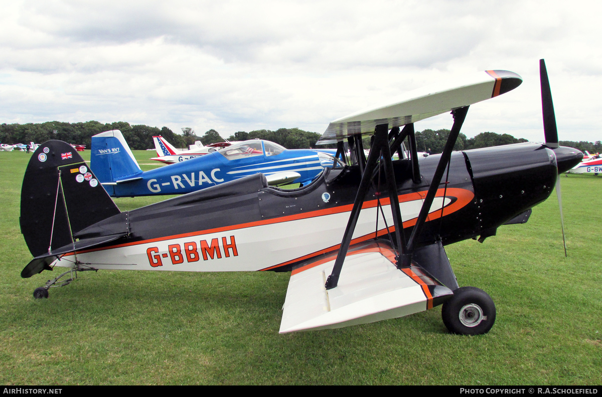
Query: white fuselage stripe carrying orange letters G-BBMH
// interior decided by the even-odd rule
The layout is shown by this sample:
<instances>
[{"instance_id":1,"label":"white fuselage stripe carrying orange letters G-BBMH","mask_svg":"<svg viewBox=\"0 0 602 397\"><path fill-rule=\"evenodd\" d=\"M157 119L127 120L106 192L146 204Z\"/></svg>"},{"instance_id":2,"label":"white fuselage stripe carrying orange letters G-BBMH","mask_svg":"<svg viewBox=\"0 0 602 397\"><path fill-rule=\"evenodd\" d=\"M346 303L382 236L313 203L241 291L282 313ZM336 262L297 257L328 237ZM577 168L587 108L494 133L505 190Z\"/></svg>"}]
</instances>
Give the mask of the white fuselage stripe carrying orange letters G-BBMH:
<instances>
[{"instance_id":1,"label":"white fuselage stripe carrying orange letters G-BBMH","mask_svg":"<svg viewBox=\"0 0 602 397\"><path fill-rule=\"evenodd\" d=\"M450 198L445 198L445 205L451 201ZM436 197L430 212L439 211L442 203L443 198ZM401 203L403 221L418 217L422 204L423 200ZM393 226L390 206L383 206L383 212L388 226ZM90 266L98 269L257 271L291 262L340 244L349 214L350 211L347 211L224 232L143 242L142 244L78 253L77 256L79 262L90 263ZM353 233L354 239L374 233L376 215L377 207L363 209L360 212ZM385 229L380 214L379 227L379 230ZM234 236L234 241L232 241L232 236ZM205 252L206 258L203 258L202 255L203 243L205 247L212 248ZM194 250L190 250L190 256L187 256L186 247L193 248L194 246L196 246L196 254ZM151 259L156 262L157 266L151 265ZM172 263L180 261L181 263ZM56 260L54 264L71 267L73 256L65 256Z\"/></svg>"}]
</instances>

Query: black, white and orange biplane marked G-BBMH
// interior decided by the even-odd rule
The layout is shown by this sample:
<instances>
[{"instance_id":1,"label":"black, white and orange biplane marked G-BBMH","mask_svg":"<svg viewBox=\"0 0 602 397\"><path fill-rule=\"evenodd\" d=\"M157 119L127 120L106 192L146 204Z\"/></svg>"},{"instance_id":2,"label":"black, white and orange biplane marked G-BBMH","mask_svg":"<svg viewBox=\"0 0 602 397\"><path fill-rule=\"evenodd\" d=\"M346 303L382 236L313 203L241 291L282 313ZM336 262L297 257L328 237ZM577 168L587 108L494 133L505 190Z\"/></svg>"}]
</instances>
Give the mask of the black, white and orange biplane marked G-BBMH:
<instances>
[{"instance_id":1,"label":"black, white and orange biplane marked G-BBMH","mask_svg":"<svg viewBox=\"0 0 602 397\"><path fill-rule=\"evenodd\" d=\"M290 271L281 333L441 304L448 330L486 333L495 305L486 292L459 287L445 245L524 223L558 174L582 158L558 146L543 63L544 144L452 152L468 107L521 82L488 70L335 120L320 142L336 143L337 156L301 188L270 186L255 174L132 211L117 208L76 153L61 159L67 144L48 141L23 179L20 226L34 259L21 275L66 268L34 291L46 298L49 288L98 269ZM418 161L414 123L444 112L453 126L443 152ZM364 134L374 137L367 158ZM353 165L337 159L344 143Z\"/></svg>"}]
</instances>

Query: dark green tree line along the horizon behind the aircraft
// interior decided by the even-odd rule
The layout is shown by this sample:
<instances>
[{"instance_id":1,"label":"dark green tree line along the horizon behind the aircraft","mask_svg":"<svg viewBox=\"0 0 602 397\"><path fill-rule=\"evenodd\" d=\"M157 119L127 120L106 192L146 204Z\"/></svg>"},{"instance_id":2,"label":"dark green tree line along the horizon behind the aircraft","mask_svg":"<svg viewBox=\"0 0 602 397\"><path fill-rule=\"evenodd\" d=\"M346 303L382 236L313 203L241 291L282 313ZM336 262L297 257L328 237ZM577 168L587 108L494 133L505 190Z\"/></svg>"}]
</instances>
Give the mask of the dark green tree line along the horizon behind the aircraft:
<instances>
[{"instance_id":1,"label":"dark green tree line along the horizon behind the aircraft","mask_svg":"<svg viewBox=\"0 0 602 397\"><path fill-rule=\"evenodd\" d=\"M161 135L175 147L185 148L195 141L201 141L203 144L223 142L224 138L214 129L206 131L201 137L196 135L192 128L182 128L182 133L175 133L167 127L161 129L147 125L130 125L126 122L100 123L90 121L85 123L65 123L65 122L46 122L46 123L27 123L27 124L2 124L0 125L0 143L43 143L48 140L61 140L72 144L84 144L90 149L90 143L93 135L100 132L119 129L123 137L128 142L129 147L134 150L146 150L155 147L152 137ZM428 152L430 154L441 153L447 137L450 134L448 129L425 129L416 132L416 141L419 152ZM229 141L246 141L249 139L263 139L278 143L287 149L309 149L315 147L315 143L320 138L317 132L303 131L299 128L280 128L276 131L260 129L250 132L238 131L228 137ZM480 147L499 146L511 143L527 142L524 138L515 138L509 134L496 134L495 132L482 132L474 138L467 138L460 133L454 150L478 149ZM595 143L586 141L560 141L563 146L574 147L590 153L602 152L602 142ZM365 138L364 146L370 147L370 138Z\"/></svg>"}]
</instances>

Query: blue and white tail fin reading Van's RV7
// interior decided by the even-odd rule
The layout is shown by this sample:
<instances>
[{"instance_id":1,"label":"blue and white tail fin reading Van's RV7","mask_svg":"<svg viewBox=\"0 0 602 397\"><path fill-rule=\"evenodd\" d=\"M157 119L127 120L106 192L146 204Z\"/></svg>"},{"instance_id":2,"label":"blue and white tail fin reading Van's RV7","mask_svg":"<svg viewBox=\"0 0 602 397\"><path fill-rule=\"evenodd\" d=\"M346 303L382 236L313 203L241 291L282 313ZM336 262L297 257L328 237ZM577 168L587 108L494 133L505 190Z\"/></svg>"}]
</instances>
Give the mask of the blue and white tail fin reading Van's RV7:
<instances>
[{"instance_id":1,"label":"blue and white tail fin reading Van's RV7","mask_svg":"<svg viewBox=\"0 0 602 397\"><path fill-rule=\"evenodd\" d=\"M101 132L92 137L90 168L101 183L116 182L142 173L121 131Z\"/></svg>"}]
</instances>

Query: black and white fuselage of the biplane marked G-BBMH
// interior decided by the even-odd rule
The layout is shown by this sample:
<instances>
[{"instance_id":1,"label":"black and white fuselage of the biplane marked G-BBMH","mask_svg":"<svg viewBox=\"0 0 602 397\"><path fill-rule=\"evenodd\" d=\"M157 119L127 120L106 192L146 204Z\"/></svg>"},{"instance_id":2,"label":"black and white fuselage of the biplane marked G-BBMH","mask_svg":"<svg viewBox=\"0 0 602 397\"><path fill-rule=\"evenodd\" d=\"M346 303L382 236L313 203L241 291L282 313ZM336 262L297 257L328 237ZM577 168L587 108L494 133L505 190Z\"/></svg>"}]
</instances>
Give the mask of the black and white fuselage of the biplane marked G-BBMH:
<instances>
[{"instance_id":1,"label":"black and white fuselage of the biplane marked G-BBMH","mask_svg":"<svg viewBox=\"0 0 602 397\"><path fill-rule=\"evenodd\" d=\"M563 159L563 168L579 161L576 153L566 155L571 159ZM408 160L394 161L406 237L438 159L438 155L421 159L418 184L412 182ZM418 245L439 239L452 244L495 230L545 200L554 188L557 170L554 151L541 144L453 153L448 182L439 186ZM375 178L367 194L353 242L385 236L385 223L389 232L395 232L388 198L380 199L386 222L377 215L378 198L387 195L383 178L380 185ZM287 191L267 186L257 174L181 195L129 211L128 236L78 252L77 259L107 269L290 270L301 260L337 250L360 179L359 167L329 169L303 188ZM123 214L87 227L75 237L98 238L123 230ZM67 255L57 265L72 266L73 259Z\"/></svg>"}]
</instances>

